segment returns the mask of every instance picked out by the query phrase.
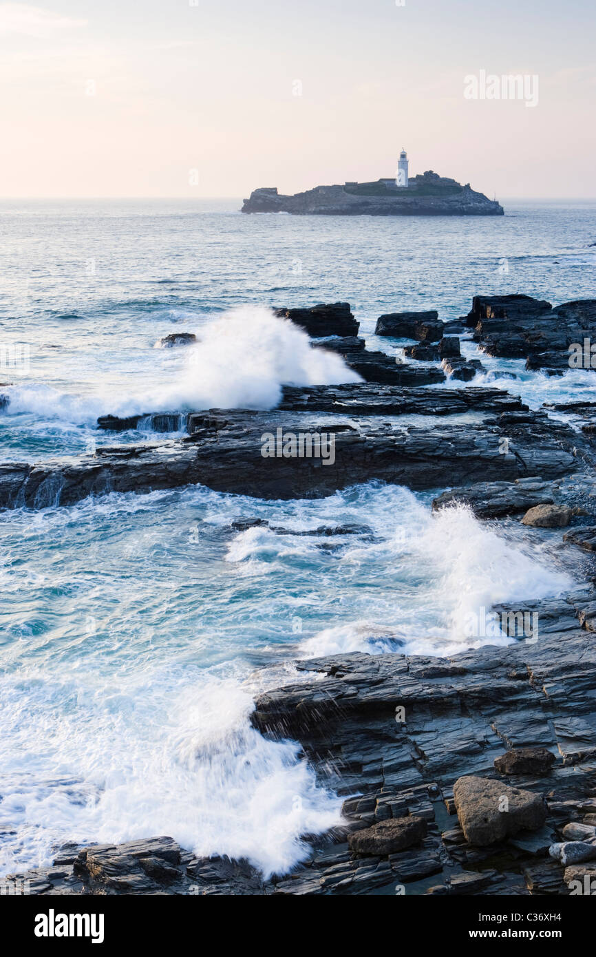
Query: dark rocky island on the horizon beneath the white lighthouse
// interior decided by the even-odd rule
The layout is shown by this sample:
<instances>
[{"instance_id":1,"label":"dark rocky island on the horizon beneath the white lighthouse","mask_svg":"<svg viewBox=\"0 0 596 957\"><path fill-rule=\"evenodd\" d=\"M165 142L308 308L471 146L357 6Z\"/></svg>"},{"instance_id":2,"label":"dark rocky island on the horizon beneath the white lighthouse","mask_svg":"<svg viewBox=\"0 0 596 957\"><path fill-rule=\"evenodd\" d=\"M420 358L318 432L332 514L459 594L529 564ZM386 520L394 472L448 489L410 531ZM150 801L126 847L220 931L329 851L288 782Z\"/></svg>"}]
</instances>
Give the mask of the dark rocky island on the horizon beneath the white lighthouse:
<instances>
[{"instance_id":1,"label":"dark rocky island on the horizon beneath the white lighthouse","mask_svg":"<svg viewBox=\"0 0 596 957\"><path fill-rule=\"evenodd\" d=\"M373 183L318 186L285 196L276 188L254 189L242 212L293 212L327 216L502 216L503 208L467 183L438 176L432 170L414 176L407 187L394 179Z\"/></svg>"}]
</instances>

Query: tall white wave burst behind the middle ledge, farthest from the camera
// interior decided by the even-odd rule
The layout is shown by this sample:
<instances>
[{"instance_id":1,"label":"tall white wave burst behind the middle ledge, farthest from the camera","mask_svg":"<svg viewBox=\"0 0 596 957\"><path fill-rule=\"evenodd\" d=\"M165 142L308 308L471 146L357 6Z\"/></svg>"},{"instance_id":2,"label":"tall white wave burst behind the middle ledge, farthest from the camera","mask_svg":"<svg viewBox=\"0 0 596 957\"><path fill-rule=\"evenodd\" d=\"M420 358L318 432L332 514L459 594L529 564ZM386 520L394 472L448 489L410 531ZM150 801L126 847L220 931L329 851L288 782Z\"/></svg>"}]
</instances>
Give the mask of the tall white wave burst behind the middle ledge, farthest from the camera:
<instances>
[{"instance_id":1,"label":"tall white wave burst behind the middle ledge, farthest from the camera","mask_svg":"<svg viewBox=\"0 0 596 957\"><path fill-rule=\"evenodd\" d=\"M4 391L6 414L33 412L89 425L99 415L202 409L273 409L282 386L335 385L360 382L342 357L311 346L297 325L276 317L271 309L242 306L219 315L200 329L201 342L179 350L151 349L156 364L152 389L77 396L45 384L31 383Z\"/></svg>"}]
</instances>

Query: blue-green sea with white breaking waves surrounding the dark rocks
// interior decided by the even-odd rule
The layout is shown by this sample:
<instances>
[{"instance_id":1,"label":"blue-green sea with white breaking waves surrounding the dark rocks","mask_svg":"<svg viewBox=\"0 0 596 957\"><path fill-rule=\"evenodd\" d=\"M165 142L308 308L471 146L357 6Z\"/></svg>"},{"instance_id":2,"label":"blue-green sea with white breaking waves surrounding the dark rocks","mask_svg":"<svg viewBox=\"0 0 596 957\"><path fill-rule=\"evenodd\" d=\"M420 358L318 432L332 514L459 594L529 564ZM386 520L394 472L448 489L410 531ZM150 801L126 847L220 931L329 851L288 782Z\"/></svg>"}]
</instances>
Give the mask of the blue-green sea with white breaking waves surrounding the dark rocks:
<instances>
[{"instance_id":1,"label":"blue-green sea with white breaking waves surrounding the dark rocks","mask_svg":"<svg viewBox=\"0 0 596 957\"><path fill-rule=\"evenodd\" d=\"M238 199L2 201L0 461L158 438L150 418L100 432L105 413L268 410L284 384L354 381L271 307L348 301L367 347L399 355L374 335L383 313L596 297L596 201L502 202L502 217L336 218L243 215ZM175 332L198 342L162 347ZM594 400L589 371L462 350L486 367L474 385L531 408ZM507 644L462 620L585 581L547 533L433 514L432 498L373 481L308 501L189 486L1 513L0 873L67 841L151 835L265 875L306 857L301 835L337 824L342 798L298 743L252 727L255 695L304 680L300 658ZM290 534L232 529L255 518ZM345 523L368 532L291 534Z\"/></svg>"}]
</instances>

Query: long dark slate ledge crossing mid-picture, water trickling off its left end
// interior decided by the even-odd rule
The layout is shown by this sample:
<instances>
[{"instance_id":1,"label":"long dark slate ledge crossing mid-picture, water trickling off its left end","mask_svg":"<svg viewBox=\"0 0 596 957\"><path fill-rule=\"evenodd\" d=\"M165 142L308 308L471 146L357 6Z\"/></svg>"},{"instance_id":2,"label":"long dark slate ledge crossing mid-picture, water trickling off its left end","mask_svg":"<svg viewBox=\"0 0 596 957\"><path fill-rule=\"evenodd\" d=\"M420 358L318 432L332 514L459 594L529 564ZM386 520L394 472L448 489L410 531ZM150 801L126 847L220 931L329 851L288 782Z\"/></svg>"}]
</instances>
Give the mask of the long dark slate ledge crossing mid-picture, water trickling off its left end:
<instances>
[{"instance_id":1,"label":"long dark slate ledge crossing mid-picture, water trickling off its left end","mask_svg":"<svg viewBox=\"0 0 596 957\"><path fill-rule=\"evenodd\" d=\"M509 415L516 414L503 413L495 424L424 428L365 419L354 425L336 419L313 426L297 413L206 412L193 416L194 431L187 439L0 466L0 507L41 508L112 491L149 492L196 483L258 499L302 499L332 495L370 479L427 489L450 479L555 478L571 471L576 434L537 413L512 426ZM283 455L284 435L298 442L299 434L313 433L335 436L333 460ZM503 435L509 442L506 453ZM264 436L268 441L280 437L275 457L262 455Z\"/></svg>"}]
</instances>

